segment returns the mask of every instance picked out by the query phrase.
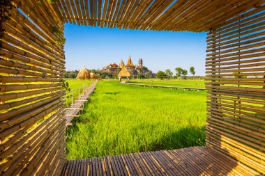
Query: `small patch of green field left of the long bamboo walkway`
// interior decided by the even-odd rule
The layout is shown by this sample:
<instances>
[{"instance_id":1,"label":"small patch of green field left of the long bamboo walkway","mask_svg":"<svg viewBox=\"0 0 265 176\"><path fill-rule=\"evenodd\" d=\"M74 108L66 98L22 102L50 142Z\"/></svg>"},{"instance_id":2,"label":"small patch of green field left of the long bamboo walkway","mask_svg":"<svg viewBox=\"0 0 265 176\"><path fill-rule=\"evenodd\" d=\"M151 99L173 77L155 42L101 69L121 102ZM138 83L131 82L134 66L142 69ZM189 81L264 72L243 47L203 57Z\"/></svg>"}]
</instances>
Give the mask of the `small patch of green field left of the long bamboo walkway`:
<instances>
[{"instance_id":1,"label":"small patch of green field left of the long bamboo walkway","mask_svg":"<svg viewBox=\"0 0 265 176\"><path fill-rule=\"evenodd\" d=\"M69 83L70 91L76 90L78 88L82 88L84 85L89 85L89 83L92 82L92 80L77 80L77 79L66 79L66 82ZM82 90L81 90L82 91ZM79 90L76 90L73 92L73 100L77 99L79 95ZM70 106L72 102L72 98L68 97L66 98L66 106Z\"/></svg>"}]
</instances>

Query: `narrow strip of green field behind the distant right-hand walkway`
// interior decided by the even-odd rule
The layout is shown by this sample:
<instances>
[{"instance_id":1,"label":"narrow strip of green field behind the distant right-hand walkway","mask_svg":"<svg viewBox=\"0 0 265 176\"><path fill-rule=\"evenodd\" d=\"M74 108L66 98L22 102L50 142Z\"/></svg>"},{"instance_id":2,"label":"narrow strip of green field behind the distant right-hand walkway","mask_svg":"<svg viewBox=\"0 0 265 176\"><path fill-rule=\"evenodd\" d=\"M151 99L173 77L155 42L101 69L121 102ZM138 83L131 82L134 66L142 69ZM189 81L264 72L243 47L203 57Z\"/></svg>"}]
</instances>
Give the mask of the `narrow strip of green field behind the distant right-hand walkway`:
<instances>
[{"instance_id":1,"label":"narrow strip of green field behind the distant right-hand walkway","mask_svg":"<svg viewBox=\"0 0 265 176\"><path fill-rule=\"evenodd\" d=\"M188 88L205 88L205 81L198 79L181 80L181 79L131 79L130 83L141 83L147 85L158 86L176 86L176 87L188 87Z\"/></svg>"}]
</instances>

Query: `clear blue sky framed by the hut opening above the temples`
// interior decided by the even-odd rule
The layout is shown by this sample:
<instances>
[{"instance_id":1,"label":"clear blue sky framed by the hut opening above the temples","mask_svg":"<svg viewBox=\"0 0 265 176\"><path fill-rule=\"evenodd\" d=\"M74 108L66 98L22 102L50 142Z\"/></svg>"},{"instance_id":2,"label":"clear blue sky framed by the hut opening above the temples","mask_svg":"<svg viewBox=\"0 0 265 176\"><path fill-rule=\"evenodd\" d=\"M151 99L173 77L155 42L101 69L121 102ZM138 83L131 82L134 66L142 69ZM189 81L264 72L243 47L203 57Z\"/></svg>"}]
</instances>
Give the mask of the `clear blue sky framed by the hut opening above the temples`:
<instances>
[{"instance_id":1,"label":"clear blue sky framed by the hut opening above the temples","mask_svg":"<svg viewBox=\"0 0 265 176\"><path fill-rule=\"evenodd\" d=\"M153 72L195 67L205 74L206 33L107 29L66 24L66 70L102 68L128 56L134 64L143 59Z\"/></svg>"}]
</instances>

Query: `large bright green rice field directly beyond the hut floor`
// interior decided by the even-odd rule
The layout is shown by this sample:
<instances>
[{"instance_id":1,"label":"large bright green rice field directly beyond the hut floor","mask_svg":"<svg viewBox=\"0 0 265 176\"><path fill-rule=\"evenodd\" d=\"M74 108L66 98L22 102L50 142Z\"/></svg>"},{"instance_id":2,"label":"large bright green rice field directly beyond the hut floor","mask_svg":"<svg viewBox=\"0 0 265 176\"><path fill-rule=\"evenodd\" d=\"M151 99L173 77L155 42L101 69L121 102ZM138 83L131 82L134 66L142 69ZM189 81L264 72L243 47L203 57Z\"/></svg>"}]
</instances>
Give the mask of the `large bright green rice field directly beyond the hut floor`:
<instances>
[{"instance_id":1,"label":"large bright green rice field directly beyond the hut floor","mask_svg":"<svg viewBox=\"0 0 265 176\"><path fill-rule=\"evenodd\" d=\"M206 93L100 81L67 131L67 158L204 145Z\"/></svg>"}]
</instances>

